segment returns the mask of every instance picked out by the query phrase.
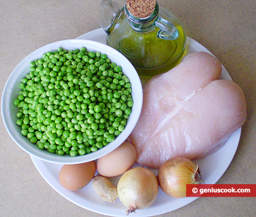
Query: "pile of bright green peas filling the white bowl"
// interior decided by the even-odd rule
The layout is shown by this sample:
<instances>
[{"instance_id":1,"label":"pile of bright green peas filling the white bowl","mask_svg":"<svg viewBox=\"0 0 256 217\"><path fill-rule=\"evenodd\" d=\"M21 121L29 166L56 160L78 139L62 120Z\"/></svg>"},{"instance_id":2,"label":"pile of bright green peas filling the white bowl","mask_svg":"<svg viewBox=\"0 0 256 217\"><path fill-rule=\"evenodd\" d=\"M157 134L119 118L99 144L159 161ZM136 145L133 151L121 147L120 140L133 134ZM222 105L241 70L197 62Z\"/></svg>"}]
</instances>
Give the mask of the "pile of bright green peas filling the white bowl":
<instances>
[{"instance_id":1,"label":"pile of bright green peas filling the white bowl","mask_svg":"<svg viewBox=\"0 0 256 217\"><path fill-rule=\"evenodd\" d=\"M41 150L85 155L113 142L133 107L130 79L106 54L57 48L30 62L16 124Z\"/></svg>"}]
</instances>

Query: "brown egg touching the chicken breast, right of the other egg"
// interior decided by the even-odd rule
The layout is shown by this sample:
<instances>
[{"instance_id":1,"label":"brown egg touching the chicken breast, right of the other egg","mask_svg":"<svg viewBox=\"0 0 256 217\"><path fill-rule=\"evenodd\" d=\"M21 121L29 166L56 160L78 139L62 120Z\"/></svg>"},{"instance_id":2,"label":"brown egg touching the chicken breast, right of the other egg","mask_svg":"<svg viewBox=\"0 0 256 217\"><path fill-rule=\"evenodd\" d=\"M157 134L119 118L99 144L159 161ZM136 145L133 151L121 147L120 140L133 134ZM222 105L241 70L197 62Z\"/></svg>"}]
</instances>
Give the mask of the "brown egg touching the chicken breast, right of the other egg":
<instances>
[{"instance_id":1,"label":"brown egg touching the chicken breast, right of the other egg","mask_svg":"<svg viewBox=\"0 0 256 217\"><path fill-rule=\"evenodd\" d=\"M109 154L97 161L97 171L105 177L119 176L133 167L137 158L134 146L129 142L123 142Z\"/></svg>"}]
</instances>

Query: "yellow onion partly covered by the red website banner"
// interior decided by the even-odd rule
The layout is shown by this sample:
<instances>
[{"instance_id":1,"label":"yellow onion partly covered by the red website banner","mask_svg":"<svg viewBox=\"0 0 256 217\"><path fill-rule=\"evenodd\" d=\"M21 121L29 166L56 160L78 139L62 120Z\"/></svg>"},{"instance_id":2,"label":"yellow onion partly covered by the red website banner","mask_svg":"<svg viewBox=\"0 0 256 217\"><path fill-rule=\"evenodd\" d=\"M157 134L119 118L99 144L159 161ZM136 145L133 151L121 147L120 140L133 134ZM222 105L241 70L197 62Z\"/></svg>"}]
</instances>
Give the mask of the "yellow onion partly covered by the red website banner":
<instances>
[{"instance_id":1,"label":"yellow onion partly covered by the red website banner","mask_svg":"<svg viewBox=\"0 0 256 217\"><path fill-rule=\"evenodd\" d=\"M157 178L163 192L176 198L186 197L187 184L203 183L198 165L183 157L172 158L163 163Z\"/></svg>"}]
</instances>

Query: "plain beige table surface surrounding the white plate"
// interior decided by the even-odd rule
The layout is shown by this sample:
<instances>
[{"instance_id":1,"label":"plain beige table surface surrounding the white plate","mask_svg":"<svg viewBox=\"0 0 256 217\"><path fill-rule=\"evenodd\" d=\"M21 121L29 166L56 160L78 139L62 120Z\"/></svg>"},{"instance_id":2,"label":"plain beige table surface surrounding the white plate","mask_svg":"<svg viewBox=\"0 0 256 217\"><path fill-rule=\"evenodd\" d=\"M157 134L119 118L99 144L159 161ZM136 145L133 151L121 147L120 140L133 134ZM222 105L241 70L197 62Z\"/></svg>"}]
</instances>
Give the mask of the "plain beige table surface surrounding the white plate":
<instances>
[{"instance_id":1,"label":"plain beige table surface surrounding the white plate","mask_svg":"<svg viewBox=\"0 0 256 217\"><path fill-rule=\"evenodd\" d=\"M119 0L123 2L123 0ZM208 48L245 91L248 112L232 163L218 184L256 184L256 1L158 0L179 17L187 35ZM14 67L50 42L100 28L100 0L0 0L0 92ZM0 216L104 216L55 192L0 120ZM256 216L254 198L199 198L159 216ZM136 215L131 215L136 216Z\"/></svg>"}]
</instances>

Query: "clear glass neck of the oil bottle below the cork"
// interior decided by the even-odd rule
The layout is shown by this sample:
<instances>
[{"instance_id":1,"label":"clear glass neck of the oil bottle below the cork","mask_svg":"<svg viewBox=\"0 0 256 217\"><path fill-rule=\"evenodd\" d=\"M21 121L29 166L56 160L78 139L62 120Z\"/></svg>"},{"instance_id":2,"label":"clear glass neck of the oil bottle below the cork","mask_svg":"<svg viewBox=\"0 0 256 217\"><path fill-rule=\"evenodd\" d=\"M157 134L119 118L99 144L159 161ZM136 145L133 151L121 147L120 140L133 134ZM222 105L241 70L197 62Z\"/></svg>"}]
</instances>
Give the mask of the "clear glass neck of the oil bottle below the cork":
<instances>
[{"instance_id":1,"label":"clear glass neck of the oil bottle below the cork","mask_svg":"<svg viewBox=\"0 0 256 217\"><path fill-rule=\"evenodd\" d=\"M137 16L132 15L125 5L124 7L125 14L129 21L131 28L137 32L148 32L155 27L155 22L158 19L158 3L156 2L155 10L146 18L138 18Z\"/></svg>"}]
</instances>

